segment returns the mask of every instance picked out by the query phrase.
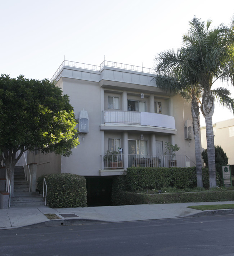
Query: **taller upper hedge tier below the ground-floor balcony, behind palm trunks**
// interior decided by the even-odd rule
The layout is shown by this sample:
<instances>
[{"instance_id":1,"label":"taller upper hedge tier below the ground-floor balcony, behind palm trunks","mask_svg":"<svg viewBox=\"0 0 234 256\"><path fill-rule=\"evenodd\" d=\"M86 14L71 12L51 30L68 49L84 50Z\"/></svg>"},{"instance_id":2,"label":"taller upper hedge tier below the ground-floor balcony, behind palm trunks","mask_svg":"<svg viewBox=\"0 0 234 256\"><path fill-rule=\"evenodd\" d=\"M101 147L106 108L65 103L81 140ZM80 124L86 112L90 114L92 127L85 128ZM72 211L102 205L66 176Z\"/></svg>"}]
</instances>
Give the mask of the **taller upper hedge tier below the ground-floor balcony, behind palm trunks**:
<instances>
[{"instance_id":1,"label":"taller upper hedge tier below the ground-floor balcony, behind palm trunks","mask_svg":"<svg viewBox=\"0 0 234 256\"><path fill-rule=\"evenodd\" d=\"M221 185L220 175L216 172L217 185ZM202 173L203 185L209 188L208 169ZM128 190L135 192L144 189L161 189L165 187L193 188L197 186L196 167L129 167L126 171Z\"/></svg>"}]
</instances>

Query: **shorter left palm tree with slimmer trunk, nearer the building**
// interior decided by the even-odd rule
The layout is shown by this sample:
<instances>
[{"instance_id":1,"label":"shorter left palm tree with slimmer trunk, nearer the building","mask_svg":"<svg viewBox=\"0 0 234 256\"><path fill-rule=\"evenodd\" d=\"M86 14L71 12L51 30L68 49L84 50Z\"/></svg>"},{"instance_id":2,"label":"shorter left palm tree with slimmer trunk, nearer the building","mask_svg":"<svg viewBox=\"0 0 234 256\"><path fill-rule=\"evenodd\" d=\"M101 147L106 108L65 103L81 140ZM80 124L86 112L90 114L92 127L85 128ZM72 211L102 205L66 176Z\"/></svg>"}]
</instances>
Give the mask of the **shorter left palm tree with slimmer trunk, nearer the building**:
<instances>
[{"instance_id":1,"label":"shorter left palm tree with slimmer trunk, nearer the building","mask_svg":"<svg viewBox=\"0 0 234 256\"><path fill-rule=\"evenodd\" d=\"M185 100L191 102L191 112L193 118L193 131L195 142L195 159L197 172L197 187L202 184L202 157L199 123L199 103L202 95L202 88L196 81L196 77L189 68L193 63L188 58L186 49L168 50L157 56L158 65L156 67L157 86L172 93L179 93Z\"/></svg>"}]
</instances>

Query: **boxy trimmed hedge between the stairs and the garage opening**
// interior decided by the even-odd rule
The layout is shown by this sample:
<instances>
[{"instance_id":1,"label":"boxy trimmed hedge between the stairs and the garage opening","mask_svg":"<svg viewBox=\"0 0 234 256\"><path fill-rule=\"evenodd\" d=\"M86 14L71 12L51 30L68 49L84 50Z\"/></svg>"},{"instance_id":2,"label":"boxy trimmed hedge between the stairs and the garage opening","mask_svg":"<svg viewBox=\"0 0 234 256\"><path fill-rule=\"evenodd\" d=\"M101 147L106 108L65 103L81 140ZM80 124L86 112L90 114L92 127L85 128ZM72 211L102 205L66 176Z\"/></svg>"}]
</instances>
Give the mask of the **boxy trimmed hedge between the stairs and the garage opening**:
<instances>
[{"instance_id":1,"label":"boxy trimmed hedge between the stairs and the garage opening","mask_svg":"<svg viewBox=\"0 0 234 256\"><path fill-rule=\"evenodd\" d=\"M53 208L86 207L87 190L83 176L62 173L42 175L37 179L37 188L43 191L43 179L47 184L47 203Z\"/></svg>"}]
</instances>

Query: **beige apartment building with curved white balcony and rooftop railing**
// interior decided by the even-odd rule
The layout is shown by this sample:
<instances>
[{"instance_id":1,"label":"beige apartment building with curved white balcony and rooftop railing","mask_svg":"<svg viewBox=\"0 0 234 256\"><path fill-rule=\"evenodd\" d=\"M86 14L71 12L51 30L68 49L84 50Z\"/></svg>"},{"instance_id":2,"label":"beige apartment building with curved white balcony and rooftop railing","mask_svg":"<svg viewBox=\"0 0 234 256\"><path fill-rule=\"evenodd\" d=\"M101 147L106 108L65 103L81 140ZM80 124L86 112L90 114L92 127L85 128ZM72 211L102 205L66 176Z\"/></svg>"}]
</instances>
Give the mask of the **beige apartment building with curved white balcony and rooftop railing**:
<instances>
[{"instance_id":1,"label":"beige apartment building with curved white balcony and rooftop railing","mask_svg":"<svg viewBox=\"0 0 234 256\"><path fill-rule=\"evenodd\" d=\"M187 131L185 139L184 133L185 123L190 123L186 121L192 120L190 104L159 89L155 77L153 69L121 63L94 66L64 61L53 79L69 95L80 118L80 145L68 158L29 154L28 163L37 162L37 176L84 175L89 202L96 205L110 198L113 177L128 166L194 166L194 139ZM164 155L165 142L178 144L176 158ZM104 156L118 148L122 156L113 167Z\"/></svg>"}]
</instances>

